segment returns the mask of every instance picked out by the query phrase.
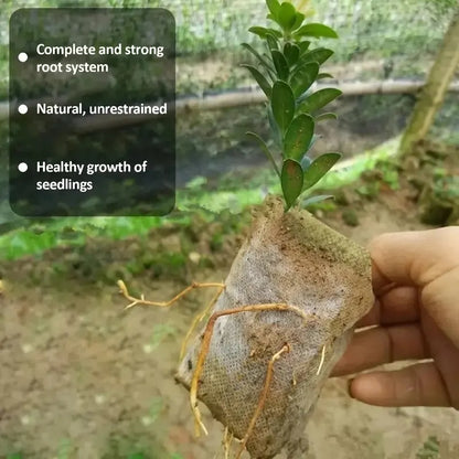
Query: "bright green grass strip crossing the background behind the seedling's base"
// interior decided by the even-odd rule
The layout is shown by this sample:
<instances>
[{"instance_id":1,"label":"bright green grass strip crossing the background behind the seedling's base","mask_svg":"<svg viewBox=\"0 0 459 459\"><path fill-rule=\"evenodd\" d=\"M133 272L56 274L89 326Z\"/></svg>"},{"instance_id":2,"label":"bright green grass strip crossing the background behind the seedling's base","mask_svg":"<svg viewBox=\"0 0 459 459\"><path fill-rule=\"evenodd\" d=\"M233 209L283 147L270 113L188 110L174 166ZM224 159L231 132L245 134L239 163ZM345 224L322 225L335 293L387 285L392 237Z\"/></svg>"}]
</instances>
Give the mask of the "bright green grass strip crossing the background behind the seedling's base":
<instances>
[{"instance_id":1,"label":"bright green grass strip crossing the background behind the seedling's base","mask_svg":"<svg viewBox=\"0 0 459 459\"><path fill-rule=\"evenodd\" d=\"M393 140L359 157L351 167L330 172L321 182L320 190L334 190L355 181L362 172L374 168L378 160L389 158L396 151L397 140ZM241 183L245 183L241 188ZM311 193L318 186L311 189ZM199 213L201 217L211 222L222 213L227 212L238 221L238 214L248 205L259 204L267 193L279 194L280 185L276 175L266 169L248 169L241 172L227 173L217 184L210 185L202 177L192 179L189 184L179 190L177 201L178 212L168 217L70 217L53 218L46 222L30 222L28 227L21 227L0 236L0 259L17 259L25 255L40 255L53 247L85 247L94 238L124 239L136 235L146 236L151 230L168 224L182 227L190 226L192 215ZM230 222L227 222L230 223ZM227 225L232 232L237 227ZM217 244L217 242L215 242ZM152 253L149 266L177 269L177 264L183 264L182 254L167 252ZM162 257L159 259L158 257ZM169 257L164 259L164 257ZM147 263L147 261L146 261ZM143 269L145 267L139 267ZM136 266L127 266L136 271ZM135 274L135 273L134 273Z\"/></svg>"}]
</instances>

